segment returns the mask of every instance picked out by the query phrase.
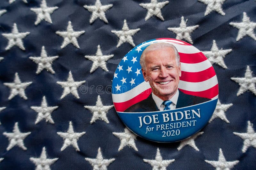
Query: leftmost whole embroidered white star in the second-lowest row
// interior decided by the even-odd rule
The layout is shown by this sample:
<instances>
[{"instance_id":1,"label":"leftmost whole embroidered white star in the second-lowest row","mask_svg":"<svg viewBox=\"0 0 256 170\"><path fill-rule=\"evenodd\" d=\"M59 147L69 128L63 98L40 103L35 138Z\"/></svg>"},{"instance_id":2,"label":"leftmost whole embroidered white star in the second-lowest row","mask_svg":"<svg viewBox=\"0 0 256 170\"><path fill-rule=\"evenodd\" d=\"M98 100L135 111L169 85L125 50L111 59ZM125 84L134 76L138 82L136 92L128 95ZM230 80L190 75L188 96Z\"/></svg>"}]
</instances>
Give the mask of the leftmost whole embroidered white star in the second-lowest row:
<instances>
[{"instance_id":1,"label":"leftmost whole embroidered white star in the second-lowest row","mask_svg":"<svg viewBox=\"0 0 256 170\"><path fill-rule=\"evenodd\" d=\"M9 145L6 148L7 151L12 149L15 145L18 145L20 148L23 150L27 150L27 148L24 146L24 139L31 133L31 132L26 132L26 133L21 133L19 129L18 122L14 124L13 133L7 133L4 132L3 135L6 136L9 140Z\"/></svg>"}]
</instances>

